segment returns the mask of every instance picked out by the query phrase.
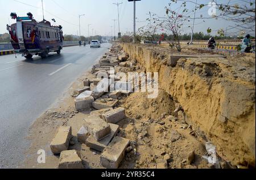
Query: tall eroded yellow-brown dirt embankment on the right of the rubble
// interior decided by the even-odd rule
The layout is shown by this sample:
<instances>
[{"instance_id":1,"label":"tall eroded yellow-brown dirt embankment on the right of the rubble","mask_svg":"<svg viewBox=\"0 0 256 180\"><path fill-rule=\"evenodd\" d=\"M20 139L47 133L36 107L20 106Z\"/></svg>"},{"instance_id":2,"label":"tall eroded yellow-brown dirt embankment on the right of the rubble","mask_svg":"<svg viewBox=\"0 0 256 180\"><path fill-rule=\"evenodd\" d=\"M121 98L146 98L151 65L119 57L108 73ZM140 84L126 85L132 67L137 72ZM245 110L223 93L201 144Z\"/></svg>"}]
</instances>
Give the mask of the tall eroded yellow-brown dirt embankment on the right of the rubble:
<instances>
[{"instance_id":1,"label":"tall eroded yellow-brown dirt embankment on the right of the rubble","mask_svg":"<svg viewBox=\"0 0 256 180\"><path fill-rule=\"evenodd\" d=\"M185 120L222 158L255 166L255 55L180 58L172 67L168 48L121 45L146 72L159 73L160 88L181 104Z\"/></svg>"}]
</instances>

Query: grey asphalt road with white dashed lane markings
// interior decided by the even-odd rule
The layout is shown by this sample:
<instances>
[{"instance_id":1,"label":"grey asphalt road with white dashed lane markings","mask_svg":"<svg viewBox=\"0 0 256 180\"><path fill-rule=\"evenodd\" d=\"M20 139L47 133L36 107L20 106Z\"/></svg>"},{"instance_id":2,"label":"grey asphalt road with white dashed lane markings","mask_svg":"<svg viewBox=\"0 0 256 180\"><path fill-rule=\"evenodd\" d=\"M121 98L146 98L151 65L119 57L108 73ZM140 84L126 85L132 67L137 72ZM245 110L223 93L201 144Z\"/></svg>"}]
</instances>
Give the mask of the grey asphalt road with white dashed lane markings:
<instances>
[{"instance_id":1,"label":"grey asphalt road with white dashed lane markings","mask_svg":"<svg viewBox=\"0 0 256 180\"><path fill-rule=\"evenodd\" d=\"M30 125L109 47L66 47L61 55L32 61L0 56L0 169L18 167L29 145L25 138Z\"/></svg>"}]
</instances>

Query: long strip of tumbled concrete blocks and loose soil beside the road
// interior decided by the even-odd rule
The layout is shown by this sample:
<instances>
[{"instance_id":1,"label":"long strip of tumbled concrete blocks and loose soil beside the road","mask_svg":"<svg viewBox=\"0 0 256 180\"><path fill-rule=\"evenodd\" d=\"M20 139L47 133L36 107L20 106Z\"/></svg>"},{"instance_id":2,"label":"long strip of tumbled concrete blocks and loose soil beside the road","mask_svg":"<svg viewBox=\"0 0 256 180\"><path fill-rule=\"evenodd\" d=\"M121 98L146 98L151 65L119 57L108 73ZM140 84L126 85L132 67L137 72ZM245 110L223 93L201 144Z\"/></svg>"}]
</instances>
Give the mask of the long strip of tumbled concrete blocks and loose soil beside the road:
<instances>
[{"instance_id":1,"label":"long strip of tumbled concrete blocks and loose soil beside the road","mask_svg":"<svg viewBox=\"0 0 256 180\"><path fill-rule=\"evenodd\" d=\"M168 62L171 66L180 65L179 60L174 57L172 60ZM74 140L69 146L71 127L60 127L52 140L52 152L61 153L59 168L218 168L210 164L209 157L214 153L209 151L209 146L205 148L204 133L189 122L188 107L181 106L170 95L167 89L171 87L160 84L158 97L148 99L147 92L133 93L133 89L128 88L131 82L114 77L114 83L109 76L110 68L114 68L115 73L146 70L120 45L113 44L93 66L91 76L81 79L84 87L74 92L76 111L49 114L49 119L64 119L65 125L72 124L69 119L77 118L73 126L77 128L78 141ZM209 71L214 74L205 67L207 76ZM107 86L102 88L104 84ZM113 84L115 91L108 93ZM78 120L80 122L76 122ZM220 166L232 167L222 158Z\"/></svg>"}]
</instances>

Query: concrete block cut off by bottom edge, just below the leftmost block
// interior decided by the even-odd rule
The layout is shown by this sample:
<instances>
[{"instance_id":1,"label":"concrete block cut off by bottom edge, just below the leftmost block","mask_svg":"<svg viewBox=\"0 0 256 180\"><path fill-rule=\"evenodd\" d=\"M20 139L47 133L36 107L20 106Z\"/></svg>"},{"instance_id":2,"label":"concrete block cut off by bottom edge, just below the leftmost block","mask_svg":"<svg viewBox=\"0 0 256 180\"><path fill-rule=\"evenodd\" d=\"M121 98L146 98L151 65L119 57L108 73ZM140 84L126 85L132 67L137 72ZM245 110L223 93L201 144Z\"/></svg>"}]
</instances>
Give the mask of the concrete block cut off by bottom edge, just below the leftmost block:
<instances>
[{"instance_id":1,"label":"concrete block cut off by bottom edge, just below the leftmost block","mask_svg":"<svg viewBox=\"0 0 256 180\"><path fill-rule=\"evenodd\" d=\"M64 150L60 153L59 169L82 169L82 160L76 150Z\"/></svg>"}]
</instances>

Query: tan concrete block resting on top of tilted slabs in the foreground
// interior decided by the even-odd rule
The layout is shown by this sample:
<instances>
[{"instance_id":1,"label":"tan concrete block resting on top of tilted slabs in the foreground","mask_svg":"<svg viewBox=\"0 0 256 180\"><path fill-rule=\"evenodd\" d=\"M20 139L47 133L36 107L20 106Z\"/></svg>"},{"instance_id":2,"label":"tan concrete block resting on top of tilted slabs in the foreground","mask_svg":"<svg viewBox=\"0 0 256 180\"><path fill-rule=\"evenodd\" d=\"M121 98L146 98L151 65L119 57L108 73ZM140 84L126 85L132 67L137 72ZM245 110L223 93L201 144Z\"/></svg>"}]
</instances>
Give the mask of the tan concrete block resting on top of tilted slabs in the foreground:
<instances>
[{"instance_id":1,"label":"tan concrete block resting on top of tilted slabs in the foreground","mask_svg":"<svg viewBox=\"0 0 256 180\"><path fill-rule=\"evenodd\" d=\"M84 119L84 127L97 141L110 135L110 125L100 116L88 116Z\"/></svg>"}]
</instances>

